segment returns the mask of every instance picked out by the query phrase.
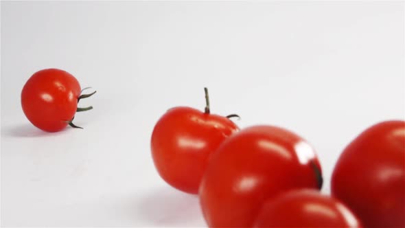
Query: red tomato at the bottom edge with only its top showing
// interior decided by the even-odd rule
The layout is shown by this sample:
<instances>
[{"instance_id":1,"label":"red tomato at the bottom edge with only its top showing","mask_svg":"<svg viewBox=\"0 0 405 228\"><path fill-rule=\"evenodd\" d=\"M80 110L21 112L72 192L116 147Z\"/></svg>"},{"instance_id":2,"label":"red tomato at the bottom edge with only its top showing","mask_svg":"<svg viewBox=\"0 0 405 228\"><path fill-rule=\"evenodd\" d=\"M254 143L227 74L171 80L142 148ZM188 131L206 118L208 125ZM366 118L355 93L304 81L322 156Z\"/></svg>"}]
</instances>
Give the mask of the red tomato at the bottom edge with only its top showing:
<instances>
[{"instance_id":1,"label":"red tomato at the bottom edge with only its top showing","mask_svg":"<svg viewBox=\"0 0 405 228\"><path fill-rule=\"evenodd\" d=\"M253 227L360 228L361 225L335 198L315 190L292 190L266 201Z\"/></svg>"}]
</instances>

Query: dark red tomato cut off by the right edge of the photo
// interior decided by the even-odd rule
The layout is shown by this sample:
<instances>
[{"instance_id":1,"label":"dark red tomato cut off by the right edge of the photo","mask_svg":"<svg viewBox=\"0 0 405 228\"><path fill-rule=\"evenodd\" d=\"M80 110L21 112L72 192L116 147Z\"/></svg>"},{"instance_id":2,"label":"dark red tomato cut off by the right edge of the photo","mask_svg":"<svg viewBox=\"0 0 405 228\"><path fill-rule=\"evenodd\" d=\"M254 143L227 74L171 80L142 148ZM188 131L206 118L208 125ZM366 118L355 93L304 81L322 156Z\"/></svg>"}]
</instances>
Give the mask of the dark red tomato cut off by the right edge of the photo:
<instances>
[{"instance_id":1,"label":"dark red tomato cut off by the right edge of the photo","mask_svg":"<svg viewBox=\"0 0 405 228\"><path fill-rule=\"evenodd\" d=\"M405 227L405 122L375 124L351 141L331 190L364 227Z\"/></svg>"}]
</instances>

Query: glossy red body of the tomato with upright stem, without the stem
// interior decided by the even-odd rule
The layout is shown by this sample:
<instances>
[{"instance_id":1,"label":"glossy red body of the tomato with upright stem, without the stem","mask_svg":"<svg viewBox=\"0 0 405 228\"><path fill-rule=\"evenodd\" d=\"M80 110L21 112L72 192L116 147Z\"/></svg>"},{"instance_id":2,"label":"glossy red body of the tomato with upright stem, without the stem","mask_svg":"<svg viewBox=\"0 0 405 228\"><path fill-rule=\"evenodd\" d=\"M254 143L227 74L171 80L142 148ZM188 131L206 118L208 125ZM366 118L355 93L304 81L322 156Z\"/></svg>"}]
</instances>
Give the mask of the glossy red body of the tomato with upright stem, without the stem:
<instances>
[{"instance_id":1,"label":"glossy red body of the tomato with upright stem, without the stem","mask_svg":"<svg viewBox=\"0 0 405 228\"><path fill-rule=\"evenodd\" d=\"M167 183L196 194L209 156L238 130L227 117L189 107L170 109L152 133L154 166Z\"/></svg>"}]
</instances>

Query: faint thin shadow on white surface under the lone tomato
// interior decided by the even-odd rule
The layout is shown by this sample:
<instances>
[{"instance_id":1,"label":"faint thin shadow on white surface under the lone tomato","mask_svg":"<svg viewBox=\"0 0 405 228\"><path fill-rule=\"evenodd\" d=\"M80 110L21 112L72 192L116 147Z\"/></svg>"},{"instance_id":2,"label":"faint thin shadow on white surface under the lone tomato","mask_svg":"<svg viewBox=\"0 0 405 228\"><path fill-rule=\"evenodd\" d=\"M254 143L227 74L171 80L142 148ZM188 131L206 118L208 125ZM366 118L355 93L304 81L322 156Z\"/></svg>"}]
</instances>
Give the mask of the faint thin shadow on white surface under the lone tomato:
<instances>
[{"instance_id":1,"label":"faint thin shadow on white surface under the lone tomato","mask_svg":"<svg viewBox=\"0 0 405 228\"><path fill-rule=\"evenodd\" d=\"M1 129L2 137L10 138L21 138L21 137L51 137L56 135L62 135L67 132L67 128L56 132L56 133L47 133L43 130L40 130L33 126L30 123L19 124L15 126L6 126Z\"/></svg>"}]
</instances>

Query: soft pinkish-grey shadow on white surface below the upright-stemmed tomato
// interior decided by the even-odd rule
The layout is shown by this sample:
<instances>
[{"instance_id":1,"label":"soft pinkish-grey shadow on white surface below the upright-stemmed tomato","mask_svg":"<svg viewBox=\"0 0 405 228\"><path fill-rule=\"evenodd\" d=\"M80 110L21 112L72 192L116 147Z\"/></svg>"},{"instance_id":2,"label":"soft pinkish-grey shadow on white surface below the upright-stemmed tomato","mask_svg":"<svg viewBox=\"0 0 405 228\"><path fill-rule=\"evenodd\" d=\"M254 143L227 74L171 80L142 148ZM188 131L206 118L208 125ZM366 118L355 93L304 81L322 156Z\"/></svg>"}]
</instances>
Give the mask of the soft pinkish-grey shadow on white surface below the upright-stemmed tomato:
<instances>
[{"instance_id":1,"label":"soft pinkish-grey shadow on white surface below the upright-stemmed tomato","mask_svg":"<svg viewBox=\"0 0 405 228\"><path fill-rule=\"evenodd\" d=\"M198 196L170 186L143 196L137 204L137 216L153 227L201 227L203 224Z\"/></svg>"}]
</instances>

